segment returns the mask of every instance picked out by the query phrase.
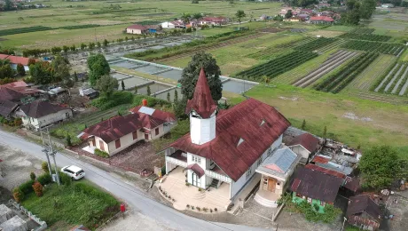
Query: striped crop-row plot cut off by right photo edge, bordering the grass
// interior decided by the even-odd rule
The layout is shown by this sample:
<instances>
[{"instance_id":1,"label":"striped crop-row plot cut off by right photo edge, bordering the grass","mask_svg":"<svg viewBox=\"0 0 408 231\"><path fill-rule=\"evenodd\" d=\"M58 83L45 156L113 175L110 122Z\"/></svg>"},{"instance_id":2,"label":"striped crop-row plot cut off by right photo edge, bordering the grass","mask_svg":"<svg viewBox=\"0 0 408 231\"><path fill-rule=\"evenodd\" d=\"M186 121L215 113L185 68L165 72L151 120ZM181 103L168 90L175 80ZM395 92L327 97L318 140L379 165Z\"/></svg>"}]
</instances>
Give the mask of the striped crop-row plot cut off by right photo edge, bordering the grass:
<instances>
[{"instance_id":1,"label":"striped crop-row plot cut off by right photo edge, bordering the grass","mask_svg":"<svg viewBox=\"0 0 408 231\"><path fill-rule=\"evenodd\" d=\"M374 92L386 92L400 96L408 95L408 64L396 63L381 79Z\"/></svg>"}]
</instances>

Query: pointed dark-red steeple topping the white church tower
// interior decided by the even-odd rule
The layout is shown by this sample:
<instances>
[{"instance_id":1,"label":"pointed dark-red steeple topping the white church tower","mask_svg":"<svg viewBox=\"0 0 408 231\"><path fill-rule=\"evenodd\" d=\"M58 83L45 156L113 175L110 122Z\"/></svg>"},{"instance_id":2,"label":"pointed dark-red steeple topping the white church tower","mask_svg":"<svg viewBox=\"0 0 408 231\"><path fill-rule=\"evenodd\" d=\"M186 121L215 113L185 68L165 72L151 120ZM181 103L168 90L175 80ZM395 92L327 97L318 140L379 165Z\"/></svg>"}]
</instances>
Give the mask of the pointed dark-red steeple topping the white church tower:
<instances>
[{"instance_id":1,"label":"pointed dark-red steeple topping the white church tower","mask_svg":"<svg viewBox=\"0 0 408 231\"><path fill-rule=\"evenodd\" d=\"M213 100L211 91L209 90L204 68L201 68L194 95L192 96L192 100L187 101L185 113L188 114L194 110L203 119L207 119L216 111L216 107L216 102Z\"/></svg>"}]
</instances>

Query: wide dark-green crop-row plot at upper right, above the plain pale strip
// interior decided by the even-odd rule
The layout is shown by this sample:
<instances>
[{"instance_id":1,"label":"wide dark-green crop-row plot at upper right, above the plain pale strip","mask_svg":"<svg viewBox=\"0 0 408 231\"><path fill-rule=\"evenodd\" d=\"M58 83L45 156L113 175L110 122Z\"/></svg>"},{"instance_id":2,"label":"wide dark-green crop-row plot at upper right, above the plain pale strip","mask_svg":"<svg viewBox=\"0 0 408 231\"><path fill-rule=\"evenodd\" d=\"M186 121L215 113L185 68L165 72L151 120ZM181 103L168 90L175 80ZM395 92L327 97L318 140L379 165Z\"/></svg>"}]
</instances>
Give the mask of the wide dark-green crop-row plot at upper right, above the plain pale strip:
<instances>
[{"instance_id":1,"label":"wide dark-green crop-row plot at upper right, above the plain pale strip","mask_svg":"<svg viewBox=\"0 0 408 231\"><path fill-rule=\"evenodd\" d=\"M401 53L404 52L404 44L388 44L361 40L350 40L341 47L365 52L381 52L396 55L396 57L399 57Z\"/></svg>"}]
</instances>

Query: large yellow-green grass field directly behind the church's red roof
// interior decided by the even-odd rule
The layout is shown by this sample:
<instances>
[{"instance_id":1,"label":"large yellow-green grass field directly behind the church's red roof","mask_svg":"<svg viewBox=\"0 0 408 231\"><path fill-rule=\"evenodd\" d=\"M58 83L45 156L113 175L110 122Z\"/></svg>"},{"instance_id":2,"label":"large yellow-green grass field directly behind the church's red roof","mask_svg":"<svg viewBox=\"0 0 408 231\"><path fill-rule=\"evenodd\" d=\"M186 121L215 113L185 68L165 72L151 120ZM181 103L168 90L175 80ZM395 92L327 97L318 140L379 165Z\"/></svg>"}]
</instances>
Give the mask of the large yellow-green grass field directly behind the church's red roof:
<instances>
[{"instance_id":1,"label":"large yellow-green grass field directly behind the church's red roof","mask_svg":"<svg viewBox=\"0 0 408 231\"><path fill-rule=\"evenodd\" d=\"M246 95L278 108L295 127L301 127L304 119L306 130L321 136L327 126L329 137L351 147L360 145L365 149L375 145L390 145L402 151L408 150L408 106L360 100L347 94L317 92L281 84L276 87L255 86ZM232 102L240 100L243 99L236 98ZM356 115L358 119L346 118L347 113ZM408 158L406 152L401 153Z\"/></svg>"}]
</instances>

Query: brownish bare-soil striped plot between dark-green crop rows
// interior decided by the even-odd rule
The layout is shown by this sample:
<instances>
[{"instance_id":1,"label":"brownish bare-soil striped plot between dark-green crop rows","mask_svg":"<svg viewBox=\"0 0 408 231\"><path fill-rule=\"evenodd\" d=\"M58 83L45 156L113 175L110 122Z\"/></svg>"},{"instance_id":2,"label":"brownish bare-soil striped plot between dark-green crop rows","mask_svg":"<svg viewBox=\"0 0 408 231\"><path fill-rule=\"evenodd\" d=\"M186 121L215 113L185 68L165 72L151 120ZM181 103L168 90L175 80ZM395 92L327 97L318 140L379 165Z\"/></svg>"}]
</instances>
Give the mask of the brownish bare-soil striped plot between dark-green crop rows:
<instances>
[{"instance_id":1,"label":"brownish bare-soil striped plot between dark-green crop rows","mask_svg":"<svg viewBox=\"0 0 408 231\"><path fill-rule=\"evenodd\" d=\"M355 57L357 52L339 51L329 57L319 68L310 72L307 76L295 81L293 84L298 87L307 87L315 83L319 78L339 67L342 63Z\"/></svg>"}]
</instances>

